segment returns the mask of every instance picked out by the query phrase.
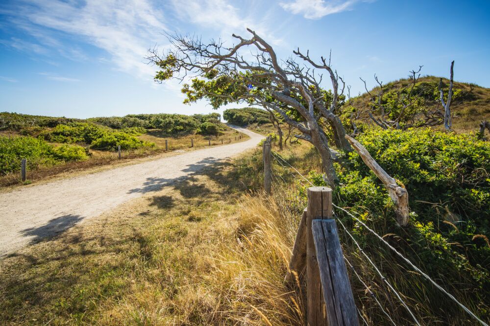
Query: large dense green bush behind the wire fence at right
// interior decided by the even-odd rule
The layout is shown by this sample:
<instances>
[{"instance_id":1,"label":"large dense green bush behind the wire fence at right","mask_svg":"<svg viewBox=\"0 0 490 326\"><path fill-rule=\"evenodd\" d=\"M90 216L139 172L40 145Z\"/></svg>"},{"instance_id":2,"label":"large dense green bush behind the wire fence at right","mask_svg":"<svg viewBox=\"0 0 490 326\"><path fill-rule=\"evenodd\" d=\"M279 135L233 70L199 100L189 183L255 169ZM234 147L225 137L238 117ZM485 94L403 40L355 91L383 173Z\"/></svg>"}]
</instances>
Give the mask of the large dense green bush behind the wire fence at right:
<instances>
[{"instance_id":1,"label":"large dense green bush behind the wire fence at right","mask_svg":"<svg viewBox=\"0 0 490 326\"><path fill-rule=\"evenodd\" d=\"M480 289L489 286L490 248L484 239L490 235L490 143L431 129L372 128L358 140L408 190L415 213L404 238L418 255L414 259L422 259L432 275L445 269ZM386 187L357 152L344 159L350 168L336 165L336 198L369 216L375 230L399 232ZM324 185L318 173L310 178Z\"/></svg>"}]
</instances>

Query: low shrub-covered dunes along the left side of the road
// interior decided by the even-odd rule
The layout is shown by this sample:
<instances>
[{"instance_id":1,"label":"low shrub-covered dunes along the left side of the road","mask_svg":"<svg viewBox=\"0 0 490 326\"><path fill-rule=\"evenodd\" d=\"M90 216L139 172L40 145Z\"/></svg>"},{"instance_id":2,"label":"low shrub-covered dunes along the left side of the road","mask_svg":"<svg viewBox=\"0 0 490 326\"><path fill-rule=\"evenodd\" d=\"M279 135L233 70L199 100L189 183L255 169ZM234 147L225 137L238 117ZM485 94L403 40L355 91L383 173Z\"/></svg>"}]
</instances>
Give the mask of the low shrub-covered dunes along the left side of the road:
<instances>
[{"instance_id":1,"label":"low shrub-covered dunes along the left side of the road","mask_svg":"<svg viewBox=\"0 0 490 326\"><path fill-rule=\"evenodd\" d=\"M63 162L84 161L88 158L91 158L90 161L103 159L103 162L109 163L107 155L115 152L118 146L121 146L123 151L131 151L132 156L143 156L151 151L162 150L162 146L165 148L161 138L170 139L170 148L179 149L190 142L190 139L187 139L190 137L196 138L196 145L199 139L205 137L207 145L210 137L223 135L231 137L232 134L232 130L221 123L221 116L218 113L193 116L151 114L72 119L3 112L0 113L0 132L13 139L19 139L16 140L15 150L12 149L15 147L12 143L7 145L3 142L0 147L2 176L18 171L20 160L23 158L28 160L30 170ZM149 134L144 136L147 133ZM25 137L18 138L18 136ZM204 141L201 143L204 144ZM21 147L24 147L23 150L19 150ZM101 156L102 154L97 155L95 158L89 149L109 153L104 157ZM12 151L16 154L12 154ZM10 185L18 182L17 178L7 177L8 180L2 179L1 184Z\"/></svg>"}]
</instances>

